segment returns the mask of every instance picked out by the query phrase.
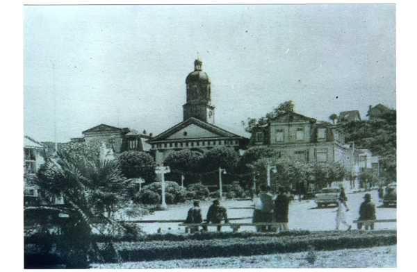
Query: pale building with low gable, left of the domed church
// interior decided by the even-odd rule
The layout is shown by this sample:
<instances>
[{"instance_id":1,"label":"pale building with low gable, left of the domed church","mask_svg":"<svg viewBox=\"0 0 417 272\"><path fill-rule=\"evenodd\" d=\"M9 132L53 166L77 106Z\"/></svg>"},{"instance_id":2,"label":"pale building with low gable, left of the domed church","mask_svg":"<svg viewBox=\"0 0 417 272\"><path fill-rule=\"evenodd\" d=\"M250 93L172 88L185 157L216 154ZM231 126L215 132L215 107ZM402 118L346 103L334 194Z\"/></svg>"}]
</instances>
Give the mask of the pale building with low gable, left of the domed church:
<instances>
[{"instance_id":1,"label":"pale building with low gable, left of the domed church","mask_svg":"<svg viewBox=\"0 0 417 272\"><path fill-rule=\"evenodd\" d=\"M152 138L152 134L147 135L146 132L138 133L131 128L116 128L101 124L83 131L83 137L72 138L71 142L103 142L113 150L114 153L122 153L124 151L145 151L149 152L151 146L147 144L147 140Z\"/></svg>"}]
</instances>

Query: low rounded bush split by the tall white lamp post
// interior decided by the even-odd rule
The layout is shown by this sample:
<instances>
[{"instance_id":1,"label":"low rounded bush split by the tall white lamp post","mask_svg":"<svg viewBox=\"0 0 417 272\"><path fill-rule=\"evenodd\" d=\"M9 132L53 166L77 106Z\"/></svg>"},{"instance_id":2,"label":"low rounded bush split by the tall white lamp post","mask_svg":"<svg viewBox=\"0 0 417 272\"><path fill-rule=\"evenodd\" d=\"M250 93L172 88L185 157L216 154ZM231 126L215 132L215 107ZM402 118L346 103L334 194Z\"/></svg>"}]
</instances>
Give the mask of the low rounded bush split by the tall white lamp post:
<instances>
[{"instance_id":1,"label":"low rounded bush split by the tall white lamp post","mask_svg":"<svg viewBox=\"0 0 417 272\"><path fill-rule=\"evenodd\" d=\"M153 192L152 193L149 193ZM146 195L146 196L144 196ZM156 197L158 195L158 197ZM138 194L138 200L143 204L161 203L162 182L154 182L145 186ZM177 182L165 182L165 202L167 204L183 203L186 201L186 192Z\"/></svg>"}]
</instances>

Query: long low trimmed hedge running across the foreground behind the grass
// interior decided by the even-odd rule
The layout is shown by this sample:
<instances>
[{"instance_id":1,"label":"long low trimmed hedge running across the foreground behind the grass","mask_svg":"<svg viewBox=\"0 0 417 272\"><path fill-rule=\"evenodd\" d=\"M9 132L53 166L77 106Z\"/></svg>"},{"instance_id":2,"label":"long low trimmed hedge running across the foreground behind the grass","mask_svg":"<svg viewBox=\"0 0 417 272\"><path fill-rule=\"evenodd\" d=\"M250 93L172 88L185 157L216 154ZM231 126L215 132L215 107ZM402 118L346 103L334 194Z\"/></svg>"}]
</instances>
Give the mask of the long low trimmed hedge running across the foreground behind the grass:
<instances>
[{"instance_id":1,"label":"long low trimmed hedge running across the foreground behind the grass","mask_svg":"<svg viewBox=\"0 0 417 272\"><path fill-rule=\"evenodd\" d=\"M104 262L118 255L122 262L181 260L190 258L250 256L342 248L369 248L397 244L396 232L336 232L336 235L252 236L247 238L115 243L113 254L102 252ZM103 244L101 246L104 246ZM107 257L110 256L110 257ZM113 256L113 257L111 257Z\"/></svg>"}]
</instances>

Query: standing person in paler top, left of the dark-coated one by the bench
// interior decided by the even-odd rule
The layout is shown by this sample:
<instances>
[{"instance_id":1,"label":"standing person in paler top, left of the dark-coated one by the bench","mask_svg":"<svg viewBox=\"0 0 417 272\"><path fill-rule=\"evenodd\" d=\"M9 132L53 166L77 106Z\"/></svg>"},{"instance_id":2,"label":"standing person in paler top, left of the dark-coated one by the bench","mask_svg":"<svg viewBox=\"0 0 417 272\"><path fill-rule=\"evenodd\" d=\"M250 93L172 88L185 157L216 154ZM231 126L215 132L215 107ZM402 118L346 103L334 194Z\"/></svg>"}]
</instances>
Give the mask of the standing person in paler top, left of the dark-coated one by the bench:
<instances>
[{"instance_id":1,"label":"standing person in paler top, left of the dark-coated one by the bench","mask_svg":"<svg viewBox=\"0 0 417 272\"><path fill-rule=\"evenodd\" d=\"M270 223L273 220L274 196L271 194L271 187L261 186L262 193L259 201L255 203L253 223ZM272 226L256 226L258 232L272 231Z\"/></svg>"}]
</instances>

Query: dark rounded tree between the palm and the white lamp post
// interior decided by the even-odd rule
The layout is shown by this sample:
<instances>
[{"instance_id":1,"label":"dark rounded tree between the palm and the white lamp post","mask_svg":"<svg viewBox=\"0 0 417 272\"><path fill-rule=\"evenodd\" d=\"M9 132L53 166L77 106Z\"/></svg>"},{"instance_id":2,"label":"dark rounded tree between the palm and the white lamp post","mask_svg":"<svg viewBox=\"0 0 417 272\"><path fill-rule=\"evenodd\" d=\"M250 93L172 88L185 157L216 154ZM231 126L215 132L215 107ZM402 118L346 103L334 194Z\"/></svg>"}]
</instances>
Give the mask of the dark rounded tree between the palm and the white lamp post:
<instances>
[{"instance_id":1,"label":"dark rounded tree between the palm and the white lamp post","mask_svg":"<svg viewBox=\"0 0 417 272\"><path fill-rule=\"evenodd\" d=\"M146 182L155 181L155 162L148 153L125 151L117 160L126 178L143 178Z\"/></svg>"}]
</instances>

